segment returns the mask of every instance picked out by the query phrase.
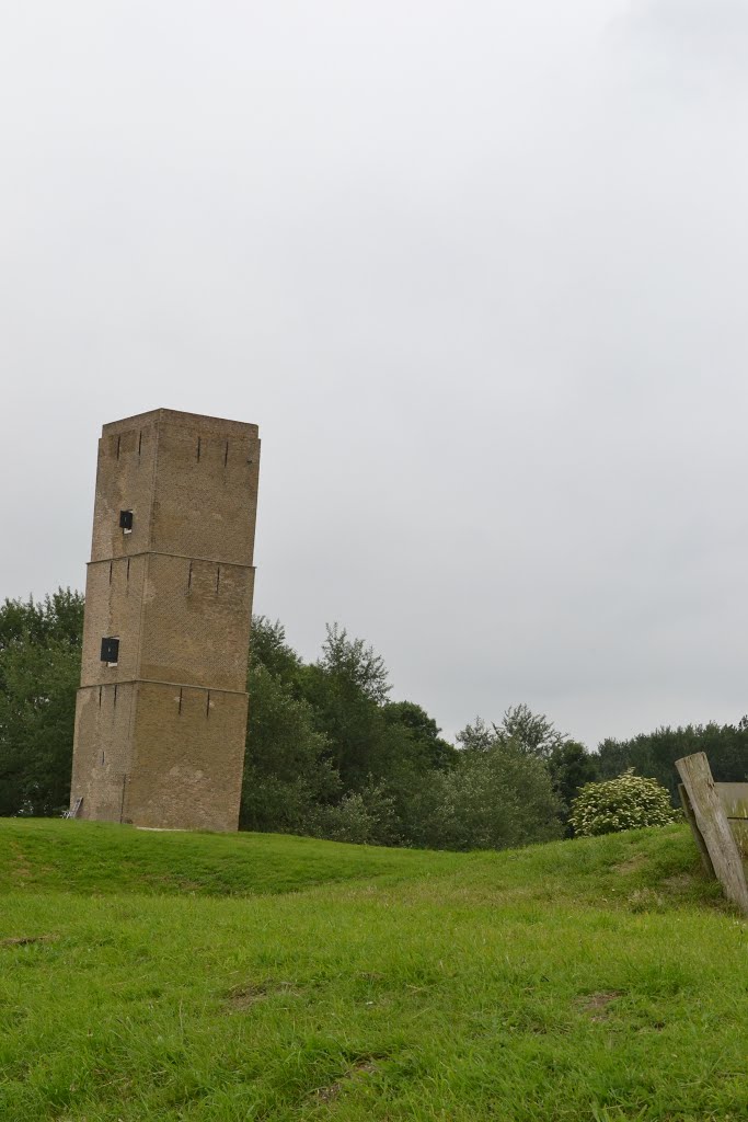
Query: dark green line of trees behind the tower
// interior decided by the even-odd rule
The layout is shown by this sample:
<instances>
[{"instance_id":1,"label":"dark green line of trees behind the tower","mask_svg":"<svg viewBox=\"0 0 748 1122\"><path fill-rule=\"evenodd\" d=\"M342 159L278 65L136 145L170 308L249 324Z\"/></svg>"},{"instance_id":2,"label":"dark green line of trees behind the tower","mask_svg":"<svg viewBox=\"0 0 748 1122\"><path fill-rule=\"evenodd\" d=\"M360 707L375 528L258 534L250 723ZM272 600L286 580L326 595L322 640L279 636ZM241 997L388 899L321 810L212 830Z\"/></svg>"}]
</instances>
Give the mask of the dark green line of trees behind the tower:
<instances>
[{"instance_id":1,"label":"dark green line of trees behind the tower","mask_svg":"<svg viewBox=\"0 0 748 1122\"><path fill-rule=\"evenodd\" d=\"M83 596L0 607L0 816L67 807ZM456 745L415 701L390 700L385 662L333 624L305 662L253 619L240 827L344 842L501 848L571 833L585 783L629 767L676 801L674 761L704 751L717 780L748 779L748 718L659 728L594 752L525 705L477 718Z\"/></svg>"}]
</instances>

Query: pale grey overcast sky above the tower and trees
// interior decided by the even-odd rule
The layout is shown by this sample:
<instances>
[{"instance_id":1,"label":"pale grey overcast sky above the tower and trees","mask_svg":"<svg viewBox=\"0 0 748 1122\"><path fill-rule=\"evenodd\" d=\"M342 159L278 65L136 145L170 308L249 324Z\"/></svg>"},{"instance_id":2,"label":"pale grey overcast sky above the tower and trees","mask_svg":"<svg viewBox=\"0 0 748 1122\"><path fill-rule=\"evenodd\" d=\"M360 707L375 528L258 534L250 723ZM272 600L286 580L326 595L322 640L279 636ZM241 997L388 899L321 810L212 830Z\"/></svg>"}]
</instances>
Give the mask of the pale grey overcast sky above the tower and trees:
<instances>
[{"instance_id":1,"label":"pale grey overcast sky above the tower and trees","mask_svg":"<svg viewBox=\"0 0 748 1122\"><path fill-rule=\"evenodd\" d=\"M453 734L748 711L745 0L0 8L0 596L260 425L256 609Z\"/></svg>"}]
</instances>

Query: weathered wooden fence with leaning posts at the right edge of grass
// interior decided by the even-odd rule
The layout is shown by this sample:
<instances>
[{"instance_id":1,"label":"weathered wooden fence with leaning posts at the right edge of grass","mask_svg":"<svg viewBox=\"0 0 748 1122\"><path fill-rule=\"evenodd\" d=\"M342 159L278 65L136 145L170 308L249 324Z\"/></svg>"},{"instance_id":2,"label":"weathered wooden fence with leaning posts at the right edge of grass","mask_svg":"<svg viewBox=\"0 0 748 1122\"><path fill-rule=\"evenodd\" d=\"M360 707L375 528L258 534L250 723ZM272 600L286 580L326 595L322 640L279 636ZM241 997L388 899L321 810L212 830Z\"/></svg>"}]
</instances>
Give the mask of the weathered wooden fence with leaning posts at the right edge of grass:
<instances>
[{"instance_id":1,"label":"weathered wooden fence with leaning posts at the right edge of grass","mask_svg":"<svg viewBox=\"0 0 748 1122\"><path fill-rule=\"evenodd\" d=\"M707 872L748 914L748 783L715 783L703 752L675 761L681 802Z\"/></svg>"}]
</instances>

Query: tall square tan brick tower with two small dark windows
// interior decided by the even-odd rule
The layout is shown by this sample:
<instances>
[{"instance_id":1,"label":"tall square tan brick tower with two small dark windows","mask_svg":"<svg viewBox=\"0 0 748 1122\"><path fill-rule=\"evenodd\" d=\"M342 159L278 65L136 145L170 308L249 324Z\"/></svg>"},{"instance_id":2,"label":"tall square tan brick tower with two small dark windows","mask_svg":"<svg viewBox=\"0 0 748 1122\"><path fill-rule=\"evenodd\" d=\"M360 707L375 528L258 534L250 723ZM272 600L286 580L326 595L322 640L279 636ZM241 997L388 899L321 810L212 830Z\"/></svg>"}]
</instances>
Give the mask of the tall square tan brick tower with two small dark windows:
<instances>
[{"instance_id":1,"label":"tall square tan brick tower with two small dark windows","mask_svg":"<svg viewBox=\"0 0 748 1122\"><path fill-rule=\"evenodd\" d=\"M72 817L237 829L259 453L194 413L103 426Z\"/></svg>"}]
</instances>

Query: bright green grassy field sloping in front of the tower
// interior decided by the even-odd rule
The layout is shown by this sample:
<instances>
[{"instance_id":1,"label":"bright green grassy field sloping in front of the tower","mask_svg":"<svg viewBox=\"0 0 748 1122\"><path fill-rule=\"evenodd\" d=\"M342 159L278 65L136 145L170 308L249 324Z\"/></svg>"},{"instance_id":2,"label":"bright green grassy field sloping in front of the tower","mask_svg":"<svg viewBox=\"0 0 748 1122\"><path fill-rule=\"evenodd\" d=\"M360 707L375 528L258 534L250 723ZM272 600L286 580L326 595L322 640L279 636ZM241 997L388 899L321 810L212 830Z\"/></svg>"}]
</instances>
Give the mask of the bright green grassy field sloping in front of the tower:
<instances>
[{"instance_id":1,"label":"bright green grassy field sloping in front of the tower","mask_svg":"<svg viewBox=\"0 0 748 1122\"><path fill-rule=\"evenodd\" d=\"M742 1120L685 827L501 854L0 821L2 1122Z\"/></svg>"}]
</instances>

